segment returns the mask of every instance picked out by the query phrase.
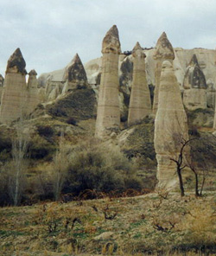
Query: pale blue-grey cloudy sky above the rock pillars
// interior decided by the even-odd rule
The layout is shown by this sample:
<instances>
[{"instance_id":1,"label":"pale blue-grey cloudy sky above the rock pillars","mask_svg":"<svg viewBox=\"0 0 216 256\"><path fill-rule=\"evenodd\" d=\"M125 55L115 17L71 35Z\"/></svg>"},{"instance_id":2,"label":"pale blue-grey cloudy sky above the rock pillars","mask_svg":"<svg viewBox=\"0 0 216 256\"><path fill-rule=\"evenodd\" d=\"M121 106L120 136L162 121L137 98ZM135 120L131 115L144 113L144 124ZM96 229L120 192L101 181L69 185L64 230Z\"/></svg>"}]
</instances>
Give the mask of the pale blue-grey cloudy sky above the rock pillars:
<instances>
[{"instance_id":1,"label":"pale blue-grey cloudy sky above the rock pillars","mask_svg":"<svg viewBox=\"0 0 216 256\"><path fill-rule=\"evenodd\" d=\"M0 0L0 74L16 48L39 75L76 53L98 58L114 24L122 51L155 47L163 31L175 48L216 48L215 0Z\"/></svg>"}]
</instances>

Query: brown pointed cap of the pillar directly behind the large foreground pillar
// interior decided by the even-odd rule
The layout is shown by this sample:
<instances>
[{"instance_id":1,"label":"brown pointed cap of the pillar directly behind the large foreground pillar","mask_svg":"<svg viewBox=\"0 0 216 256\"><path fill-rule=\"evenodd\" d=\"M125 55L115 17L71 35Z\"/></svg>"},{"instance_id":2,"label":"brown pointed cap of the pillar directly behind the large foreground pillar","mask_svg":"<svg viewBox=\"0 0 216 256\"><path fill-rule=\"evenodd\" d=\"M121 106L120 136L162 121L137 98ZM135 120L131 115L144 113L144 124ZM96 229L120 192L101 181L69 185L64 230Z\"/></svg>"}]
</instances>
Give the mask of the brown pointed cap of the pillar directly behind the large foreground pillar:
<instances>
[{"instance_id":1,"label":"brown pointed cap of the pillar directly behind the large foreground pillar","mask_svg":"<svg viewBox=\"0 0 216 256\"><path fill-rule=\"evenodd\" d=\"M165 32L159 37L156 42L155 59L162 58L163 60L174 60L175 53L172 44L168 41L168 36Z\"/></svg>"}]
</instances>

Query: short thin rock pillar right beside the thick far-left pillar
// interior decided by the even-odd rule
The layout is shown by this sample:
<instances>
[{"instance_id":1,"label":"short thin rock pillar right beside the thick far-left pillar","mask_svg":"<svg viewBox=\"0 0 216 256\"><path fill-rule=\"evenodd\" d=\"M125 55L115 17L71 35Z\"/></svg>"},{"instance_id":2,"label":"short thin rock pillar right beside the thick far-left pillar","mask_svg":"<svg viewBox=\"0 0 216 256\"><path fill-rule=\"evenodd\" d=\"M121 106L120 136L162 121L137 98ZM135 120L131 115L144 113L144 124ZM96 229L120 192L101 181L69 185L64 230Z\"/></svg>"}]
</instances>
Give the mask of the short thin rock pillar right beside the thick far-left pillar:
<instances>
[{"instance_id":1,"label":"short thin rock pillar right beside the thick far-left pillar","mask_svg":"<svg viewBox=\"0 0 216 256\"><path fill-rule=\"evenodd\" d=\"M35 69L29 72L29 80L27 85L27 112L33 112L35 107L40 103L40 96L38 92L37 73Z\"/></svg>"}]
</instances>

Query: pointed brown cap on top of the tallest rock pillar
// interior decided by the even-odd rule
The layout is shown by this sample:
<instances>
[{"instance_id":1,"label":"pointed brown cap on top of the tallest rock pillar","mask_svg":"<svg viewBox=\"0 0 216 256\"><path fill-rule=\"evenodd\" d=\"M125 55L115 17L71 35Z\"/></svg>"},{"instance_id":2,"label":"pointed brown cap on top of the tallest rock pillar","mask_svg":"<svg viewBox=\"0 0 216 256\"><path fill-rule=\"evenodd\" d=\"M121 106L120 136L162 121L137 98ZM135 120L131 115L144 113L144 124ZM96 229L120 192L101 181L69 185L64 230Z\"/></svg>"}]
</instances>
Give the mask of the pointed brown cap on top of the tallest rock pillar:
<instances>
[{"instance_id":1,"label":"pointed brown cap on top of the tallest rock pillar","mask_svg":"<svg viewBox=\"0 0 216 256\"><path fill-rule=\"evenodd\" d=\"M105 53L121 53L121 44L119 41L118 28L113 25L111 29L105 34L105 38L102 43L102 54Z\"/></svg>"}]
</instances>

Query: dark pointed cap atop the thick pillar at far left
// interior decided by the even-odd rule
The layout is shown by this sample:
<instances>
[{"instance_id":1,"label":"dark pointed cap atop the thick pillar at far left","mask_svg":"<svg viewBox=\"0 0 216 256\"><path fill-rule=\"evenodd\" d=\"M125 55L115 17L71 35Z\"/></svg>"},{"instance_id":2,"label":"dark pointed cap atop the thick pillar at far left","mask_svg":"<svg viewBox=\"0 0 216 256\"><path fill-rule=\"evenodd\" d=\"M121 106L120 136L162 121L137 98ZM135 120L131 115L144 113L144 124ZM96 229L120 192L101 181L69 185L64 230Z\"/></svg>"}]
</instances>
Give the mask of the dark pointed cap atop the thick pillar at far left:
<instances>
[{"instance_id":1,"label":"dark pointed cap atop the thick pillar at far left","mask_svg":"<svg viewBox=\"0 0 216 256\"><path fill-rule=\"evenodd\" d=\"M26 62L22 57L22 52L20 48L17 48L16 51L10 56L10 59L8 61L7 69L6 69L6 74L10 73L10 68L16 67L17 68L17 73L21 74L27 74L26 72Z\"/></svg>"}]
</instances>

